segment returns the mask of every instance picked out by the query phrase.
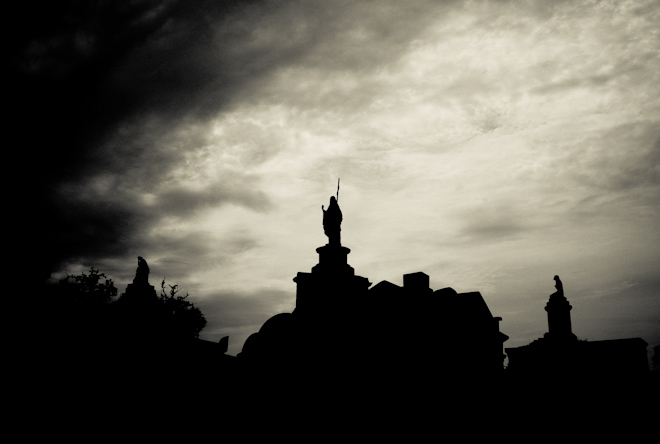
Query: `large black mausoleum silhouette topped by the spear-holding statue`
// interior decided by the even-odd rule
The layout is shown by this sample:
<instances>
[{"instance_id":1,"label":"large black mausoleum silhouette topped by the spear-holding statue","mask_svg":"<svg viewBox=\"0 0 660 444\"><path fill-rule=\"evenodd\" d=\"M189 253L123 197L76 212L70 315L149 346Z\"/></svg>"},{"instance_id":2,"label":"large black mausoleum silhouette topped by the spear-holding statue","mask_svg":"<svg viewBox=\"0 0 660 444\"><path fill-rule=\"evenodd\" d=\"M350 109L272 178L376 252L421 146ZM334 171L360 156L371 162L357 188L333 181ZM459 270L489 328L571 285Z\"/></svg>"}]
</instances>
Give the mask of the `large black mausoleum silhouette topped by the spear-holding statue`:
<instances>
[{"instance_id":1,"label":"large black mausoleum silhouette topped by the spear-holding statue","mask_svg":"<svg viewBox=\"0 0 660 444\"><path fill-rule=\"evenodd\" d=\"M238 355L246 368L286 373L314 367L349 378L359 372L383 378L502 372L508 336L479 292L433 291L422 272L405 274L402 287L388 281L371 287L348 264L351 250L340 243L340 223L331 200L324 210L329 242L316 249L318 264L293 279L293 312L271 317L248 337Z\"/></svg>"}]
</instances>

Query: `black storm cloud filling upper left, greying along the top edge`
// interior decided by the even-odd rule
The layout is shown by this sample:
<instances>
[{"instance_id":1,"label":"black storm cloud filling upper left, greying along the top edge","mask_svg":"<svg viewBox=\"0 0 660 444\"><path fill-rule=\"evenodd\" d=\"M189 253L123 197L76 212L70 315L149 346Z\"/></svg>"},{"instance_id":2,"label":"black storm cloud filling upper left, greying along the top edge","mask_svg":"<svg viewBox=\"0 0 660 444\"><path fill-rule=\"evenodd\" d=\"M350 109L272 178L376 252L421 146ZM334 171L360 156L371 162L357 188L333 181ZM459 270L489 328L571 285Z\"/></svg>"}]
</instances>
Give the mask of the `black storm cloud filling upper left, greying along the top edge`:
<instances>
[{"instance_id":1,"label":"black storm cloud filling upper left, greying along the top edge","mask_svg":"<svg viewBox=\"0 0 660 444\"><path fill-rule=\"evenodd\" d=\"M203 125L239 97L258 101L259 82L280 67L304 61L359 71L393 57L432 16L427 2L401 11L393 5L145 0L15 7L10 15L21 32L9 58L10 127L42 185L35 197L48 220L35 241L51 256L46 267L126 251L157 210L181 217L225 201L267 208L259 184L241 173L201 190L162 188L199 148L199 134L179 129ZM264 153L252 157L258 162ZM62 195L63 187L101 176L114 182L115 195ZM155 189L163 193L145 206L138 194Z\"/></svg>"}]
</instances>

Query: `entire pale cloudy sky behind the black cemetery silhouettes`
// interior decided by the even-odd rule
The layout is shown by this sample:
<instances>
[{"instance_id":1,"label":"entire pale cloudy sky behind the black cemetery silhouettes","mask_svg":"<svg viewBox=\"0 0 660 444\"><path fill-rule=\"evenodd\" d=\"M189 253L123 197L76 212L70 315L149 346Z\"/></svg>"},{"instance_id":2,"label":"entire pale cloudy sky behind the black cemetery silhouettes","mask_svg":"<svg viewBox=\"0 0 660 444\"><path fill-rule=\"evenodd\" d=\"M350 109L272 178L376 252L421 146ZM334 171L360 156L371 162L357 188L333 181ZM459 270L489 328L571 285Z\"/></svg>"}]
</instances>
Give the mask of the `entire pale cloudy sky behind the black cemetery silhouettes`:
<instances>
[{"instance_id":1,"label":"entire pale cloudy sky behind the black cemetery silhouettes","mask_svg":"<svg viewBox=\"0 0 660 444\"><path fill-rule=\"evenodd\" d=\"M229 335L295 308L341 178L356 274L480 291L505 347L660 345L660 3L23 2L8 134L43 277L137 256ZM441 314L438 316L439 322Z\"/></svg>"}]
</instances>

